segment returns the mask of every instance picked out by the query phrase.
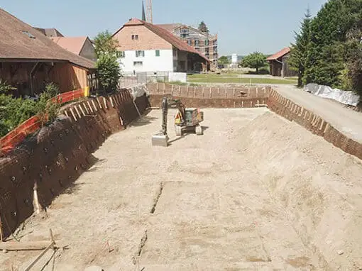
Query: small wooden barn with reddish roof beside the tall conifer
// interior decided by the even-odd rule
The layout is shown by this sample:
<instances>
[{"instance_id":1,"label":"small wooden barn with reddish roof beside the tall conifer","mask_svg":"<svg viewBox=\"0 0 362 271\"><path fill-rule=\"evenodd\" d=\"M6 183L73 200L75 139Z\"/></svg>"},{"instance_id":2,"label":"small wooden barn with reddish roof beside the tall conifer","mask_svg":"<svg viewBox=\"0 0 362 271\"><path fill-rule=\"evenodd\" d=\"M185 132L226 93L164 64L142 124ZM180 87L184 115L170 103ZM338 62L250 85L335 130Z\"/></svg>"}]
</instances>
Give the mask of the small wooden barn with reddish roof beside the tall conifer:
<instances>
[{"instance_id":1,"label":"small wooden barn with reddish roof beside the tall conifer","mask_svg":"<svg viewBox=\"0 0 362 271\"><path fill-rule=\"evenodd\" d=\"M287 63L287 59L290 55L290 48L284 48L279 52L276 52L274 55L270 55L266 60L270 65L270 74L273 76L281 77L292 77L296 76L297 72L290 70L290 67Z\"/></svg>"}]
</instances>

